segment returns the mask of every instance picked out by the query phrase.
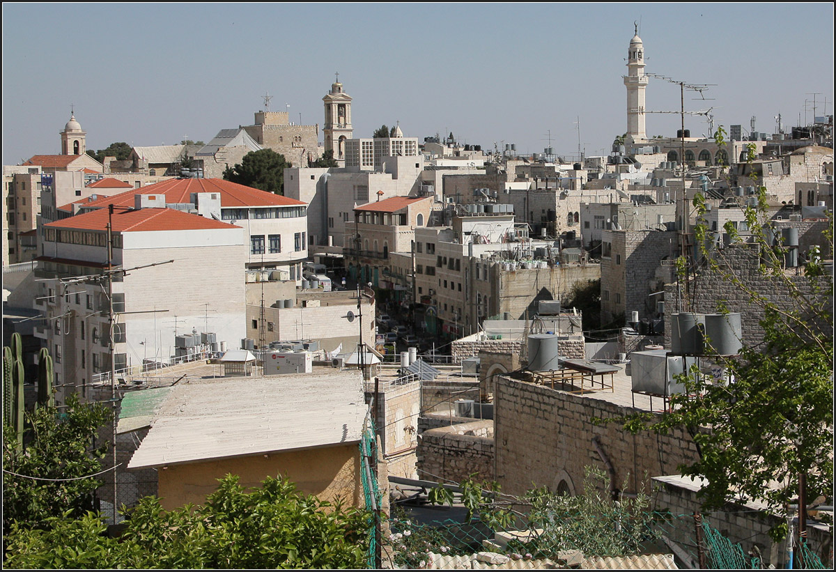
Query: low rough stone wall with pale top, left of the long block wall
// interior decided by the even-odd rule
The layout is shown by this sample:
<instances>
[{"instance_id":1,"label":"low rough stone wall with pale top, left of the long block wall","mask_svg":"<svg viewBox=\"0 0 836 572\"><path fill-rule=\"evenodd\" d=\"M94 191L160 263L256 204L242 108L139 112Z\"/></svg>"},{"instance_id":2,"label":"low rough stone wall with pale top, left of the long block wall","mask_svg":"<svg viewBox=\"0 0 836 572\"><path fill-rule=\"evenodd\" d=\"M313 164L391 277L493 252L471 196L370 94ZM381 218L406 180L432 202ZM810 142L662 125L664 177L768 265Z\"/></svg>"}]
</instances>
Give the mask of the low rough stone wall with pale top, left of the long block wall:
<instances>
[{"instance_id":1,"label":"low rough stone wall with pale top, left of the long block wall","mask_svg":"<svg viewBox=\"0 0 836 572\"><path fill-rule=\"evenodd\" d=\"M492 479L493 423L471 421L425 431L417 454L418 478L460 483L476 473L477 480Z\"/></svg>"}]
</instances>

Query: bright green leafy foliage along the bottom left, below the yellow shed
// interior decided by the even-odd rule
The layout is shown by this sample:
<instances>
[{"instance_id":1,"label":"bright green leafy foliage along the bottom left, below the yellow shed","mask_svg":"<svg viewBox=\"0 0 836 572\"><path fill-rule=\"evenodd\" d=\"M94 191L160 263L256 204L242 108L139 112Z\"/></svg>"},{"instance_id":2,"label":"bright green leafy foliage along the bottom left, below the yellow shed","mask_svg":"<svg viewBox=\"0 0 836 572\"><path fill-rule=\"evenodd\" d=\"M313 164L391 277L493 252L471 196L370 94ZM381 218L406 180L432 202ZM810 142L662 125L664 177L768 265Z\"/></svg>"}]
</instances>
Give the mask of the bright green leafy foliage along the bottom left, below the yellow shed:
<instances>
[{"instance_id":1,"label":"bright green leafy foliage along the bottom left, below the yellow shed","mask_svg":"<svg viewBox=\"0 0 836 572\"><path fill-rule=\"evenodd\" d=\"M166 512L146 497L128 513L120 539L103 536L88 513L54 518L47 530L13 526L3 564L10 568L358 569L369 545L369 514L296 491L267 478L245 491L232 475L219 479L201 506Z\"/></svg>"}]
</instances>

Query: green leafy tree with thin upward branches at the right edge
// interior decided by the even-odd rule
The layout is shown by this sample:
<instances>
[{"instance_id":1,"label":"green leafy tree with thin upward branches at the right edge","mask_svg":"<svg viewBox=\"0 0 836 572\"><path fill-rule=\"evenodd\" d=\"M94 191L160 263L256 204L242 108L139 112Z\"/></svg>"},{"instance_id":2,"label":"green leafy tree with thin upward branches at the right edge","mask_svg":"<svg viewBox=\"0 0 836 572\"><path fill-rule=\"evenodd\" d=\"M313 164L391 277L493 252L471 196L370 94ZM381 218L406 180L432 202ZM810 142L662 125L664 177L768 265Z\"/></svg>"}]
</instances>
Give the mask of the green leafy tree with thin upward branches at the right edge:
<instances>
[{"instance_id":1,"label":"green leafy tree with thin upward branches at the right edge","mask_svg":"<svg viewBox=\"0 0 836 572\"><path fill-rule=\"evenodd\" d=\"M722 128L715 135L721 146L724 135ZM753 159L750 146L747 161ZM782 304L745 283L724 259L723 250L706 246L715 238L705 222L706 199L701 193L693 206L695 242L702 253L698 273L713 273L746 294L760 312L762 344L744 346L737 356L714 358L726 368L723 380L693 368L681 376L686 390L671 396L669 412L629 416L624 427L660 433L685 427L691 433L699 459L680 468L686 476L708 481L699 493L704 508L757 499L767 504L767 513L786 517L799 482L806 481L807 498L833 498L833 278L823 272L815 253L803 276L786 272L788 248L770 238L774 231L766 187L758 187L757 205L743 207L743 215L767 283L762 290L781 293ZM723 230L732 240L740 238L731 224ZM826 232L823 240L832 253L832 233ZM677 267L681 280L693 273L686 258L680 258ZM716 312L729 311L725 300L714 303ZM777 526L773 538L782 538L786 530L786 524Z\"/></svg>"}]
</instances>

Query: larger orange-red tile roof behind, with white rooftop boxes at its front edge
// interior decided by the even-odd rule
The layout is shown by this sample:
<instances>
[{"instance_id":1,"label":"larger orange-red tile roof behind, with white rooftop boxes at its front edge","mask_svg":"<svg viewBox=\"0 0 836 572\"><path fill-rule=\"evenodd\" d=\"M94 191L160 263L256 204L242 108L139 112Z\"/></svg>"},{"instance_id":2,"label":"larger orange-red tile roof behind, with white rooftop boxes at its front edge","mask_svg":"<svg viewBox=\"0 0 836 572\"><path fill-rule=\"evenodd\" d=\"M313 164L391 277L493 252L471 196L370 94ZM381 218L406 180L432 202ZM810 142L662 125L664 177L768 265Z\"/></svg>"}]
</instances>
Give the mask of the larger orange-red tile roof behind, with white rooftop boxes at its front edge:
<instances>
[{"instance_id":1,"label":"larger orange-red tile roof behind, with white rooftop boxes at its front edge","mask_svg":"<svg viewBox=\"0 0 836 572\"><path fill-rule=\"evenodd\" d=\"M166 202L191 202L193 192L217 192L221 195L221 207L295 207L307 203L292 198L274 195L272 192L259 191L250 186L239 185L223 179L171 179L155 185L132 189L127 192L102 197L98 201L85 203L85 207L106 207L114 204L134 207L134 196L166 195Z\"/></svg>"}]
</instances>

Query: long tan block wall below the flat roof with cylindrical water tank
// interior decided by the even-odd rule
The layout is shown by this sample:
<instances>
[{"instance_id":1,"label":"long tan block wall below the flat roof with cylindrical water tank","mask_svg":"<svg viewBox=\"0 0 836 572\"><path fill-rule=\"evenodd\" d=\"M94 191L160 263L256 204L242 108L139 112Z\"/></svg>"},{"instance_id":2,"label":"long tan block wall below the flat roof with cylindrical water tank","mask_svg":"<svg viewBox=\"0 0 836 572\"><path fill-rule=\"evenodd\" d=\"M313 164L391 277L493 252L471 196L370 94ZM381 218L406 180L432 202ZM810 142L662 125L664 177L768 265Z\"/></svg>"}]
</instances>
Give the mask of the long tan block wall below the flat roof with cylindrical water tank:
<instances>
[{"instance_id":1,"label":"long tan block wall below the flat roof with cylindrical water tank","mask_svg":"<svg viewBox=\"0 0 836 572\"><path fill-rule=\"evenodd\" d=\"M596 425L594 418L614 420L632 412L589 396L535 386L500 376L494 394L497 443L496 480L502 491L522 494L533 487L558 488L563 480L573 493L583 488L584 467L605 470L592 441L600 447L616 472L616 486L627 492L650 492L650 476L676 472L679 465L695 462L696 445L686 432L656 436L631 435L618 422ZM628 479L629 475L629 479ZM624 480L627 479L626 488Z\"/></svg>"}]
</instances>

